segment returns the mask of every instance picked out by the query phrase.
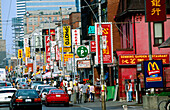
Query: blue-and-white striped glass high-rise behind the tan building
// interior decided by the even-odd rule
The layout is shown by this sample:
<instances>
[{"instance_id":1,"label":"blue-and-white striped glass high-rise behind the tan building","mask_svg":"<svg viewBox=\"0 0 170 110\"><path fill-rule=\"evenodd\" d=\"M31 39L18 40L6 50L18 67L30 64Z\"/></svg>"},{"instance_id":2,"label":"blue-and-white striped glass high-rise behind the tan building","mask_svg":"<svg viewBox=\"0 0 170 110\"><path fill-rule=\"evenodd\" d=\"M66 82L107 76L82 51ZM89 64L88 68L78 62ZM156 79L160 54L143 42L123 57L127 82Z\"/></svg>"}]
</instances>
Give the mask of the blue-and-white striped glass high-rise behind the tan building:
<instances>
[{"instance_id":1,"label":"blue-and-white striped glass high-rise behind the tan building","mask_svg":"<svg viewBox=\"0 0 170 110\"><path fill-rule=\"evenodd\" d=\"M80 11L80 0L17 0L17 18L20 22L20 37L24 35L24 15L29 11L59 10L60 7ZM75 11L74 11L75 12ZM17 32L18 33L18 32Z\"/></svg>"}]
</instances>

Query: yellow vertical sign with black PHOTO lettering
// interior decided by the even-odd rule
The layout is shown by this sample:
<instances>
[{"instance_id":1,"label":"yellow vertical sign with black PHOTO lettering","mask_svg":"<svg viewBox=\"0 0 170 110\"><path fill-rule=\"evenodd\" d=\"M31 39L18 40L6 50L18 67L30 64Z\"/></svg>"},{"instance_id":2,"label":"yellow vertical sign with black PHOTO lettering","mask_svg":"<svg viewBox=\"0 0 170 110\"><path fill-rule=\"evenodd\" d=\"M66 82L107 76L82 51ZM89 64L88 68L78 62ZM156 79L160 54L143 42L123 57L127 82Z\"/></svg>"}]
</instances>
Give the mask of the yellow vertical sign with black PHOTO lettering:
<instances>
[{"instance_id":1,"label":"yellow vertical sign with black PHOTO lettering","mask_svg":"<svg viewBox=\"0 0 170 110\"><path fill-rule=\"evenodd\" d=\"M71 35L70 35L70 26L63 26L63 39L64 39L64 46L68 47L71 46Z\"/></svg>"}]
</instances>

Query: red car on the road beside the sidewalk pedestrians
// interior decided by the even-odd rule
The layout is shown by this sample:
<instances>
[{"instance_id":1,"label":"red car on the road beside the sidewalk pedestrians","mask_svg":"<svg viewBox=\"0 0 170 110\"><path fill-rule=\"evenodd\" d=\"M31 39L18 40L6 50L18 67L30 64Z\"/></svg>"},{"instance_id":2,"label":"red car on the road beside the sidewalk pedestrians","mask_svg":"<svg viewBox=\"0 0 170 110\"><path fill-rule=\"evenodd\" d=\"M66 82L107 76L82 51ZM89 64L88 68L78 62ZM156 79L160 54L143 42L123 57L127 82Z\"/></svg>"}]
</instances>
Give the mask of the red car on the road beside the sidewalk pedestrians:
<instances>
[{"instance_id":1,"label":"red car on the road beside the sidewalk pedestrians","mask_svg":"<svg viewBox=\"0 0 170 110\"><path fill-rule=\"evenodd\" d=\"M64 104L69 106L69 95L60 89L51 89L45 97L45 105L49 104Z\"/></svg>"}]
</instances>

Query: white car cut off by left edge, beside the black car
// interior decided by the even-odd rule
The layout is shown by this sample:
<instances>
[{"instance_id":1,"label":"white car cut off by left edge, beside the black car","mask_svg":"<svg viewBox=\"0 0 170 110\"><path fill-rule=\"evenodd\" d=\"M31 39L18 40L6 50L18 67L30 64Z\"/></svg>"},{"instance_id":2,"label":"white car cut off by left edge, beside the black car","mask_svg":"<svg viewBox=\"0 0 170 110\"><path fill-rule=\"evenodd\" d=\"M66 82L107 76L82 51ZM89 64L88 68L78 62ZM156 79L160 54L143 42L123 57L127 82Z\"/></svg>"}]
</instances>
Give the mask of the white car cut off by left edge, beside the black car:
<instances>
[{"instance_id":1,"label":"white car cut off by left edge, beside the black car","mask_svg":"<svg viewBox=\"0 0 170 110\"><path fill-rule=\"evenodd\" d=\"M17 91L16 88L0 89L0 103L1 104L10 103L11 98L8 98L8 97L12 96L16 91Z\"/></svg>"}]
</instances>

